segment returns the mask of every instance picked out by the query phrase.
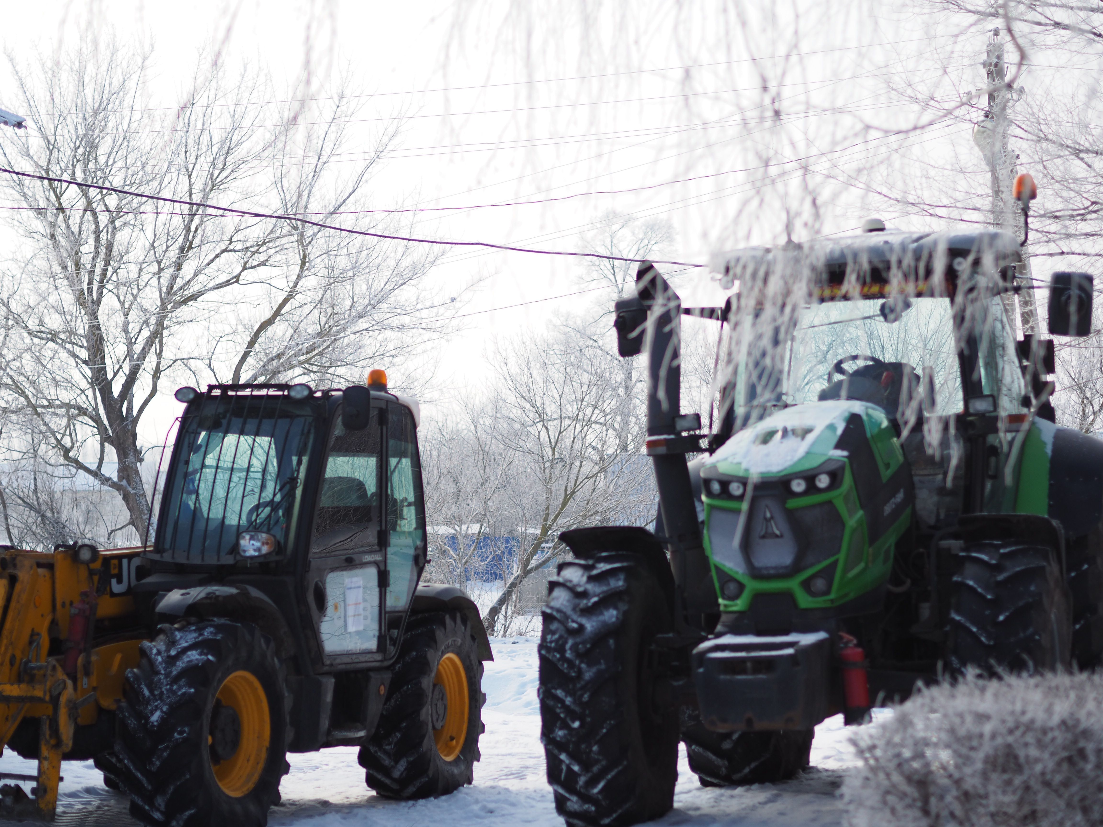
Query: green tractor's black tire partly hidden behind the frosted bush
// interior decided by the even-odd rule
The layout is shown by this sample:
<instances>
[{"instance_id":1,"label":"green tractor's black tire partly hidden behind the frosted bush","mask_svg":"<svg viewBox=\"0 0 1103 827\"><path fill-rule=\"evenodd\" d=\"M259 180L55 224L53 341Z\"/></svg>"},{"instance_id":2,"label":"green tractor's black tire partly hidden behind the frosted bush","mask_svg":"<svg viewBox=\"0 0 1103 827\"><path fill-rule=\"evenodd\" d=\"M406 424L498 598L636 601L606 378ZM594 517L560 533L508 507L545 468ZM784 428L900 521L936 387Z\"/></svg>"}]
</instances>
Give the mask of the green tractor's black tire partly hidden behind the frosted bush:
<instances>
[{"instance_id":1,"label":"green tractor's black tire partly hidden behind the frosted bush","mask_svg":"<svg viewBox=\"0 0 1103 827\"><path fill-rule=\"evenodd\" d=\"M946 653L952 670L1032 674L1069 667L1072 612L1052 549L973 543L955 565Z\"/></svg>"}]
</instances>

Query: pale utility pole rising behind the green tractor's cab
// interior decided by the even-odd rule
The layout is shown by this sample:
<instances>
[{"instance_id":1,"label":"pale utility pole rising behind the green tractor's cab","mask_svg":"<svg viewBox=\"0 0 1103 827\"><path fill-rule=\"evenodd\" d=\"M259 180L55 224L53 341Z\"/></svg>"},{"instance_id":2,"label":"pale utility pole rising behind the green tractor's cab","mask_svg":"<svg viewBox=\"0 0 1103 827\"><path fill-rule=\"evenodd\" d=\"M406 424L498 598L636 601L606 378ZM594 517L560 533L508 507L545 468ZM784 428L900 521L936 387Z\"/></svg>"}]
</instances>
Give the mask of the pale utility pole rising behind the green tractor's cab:
<instances>
[{"instance_id":1,"label":"pale utility pole rising behind the green tractor's cab","mask_svg":"<svg viewBox=\"0 0 1103 827\"><path fill-rule=\"evenodd\" d=\"M1007 63L999 29L992 30L984 58L984 74L988 82L988 108L984 120L973 130L973 140L988 162L992 186L992 226L1018 236L1022 226L1021 207L1011 197L1011 185L1017 174L1018 155L1010 151L1010 106L1013 89L1007 83ZM1016 286L1019 296L1019 322L1024 333L1038 332L1038 309L1030 280L1030 262L1022 249L1022 264L1017 268Z\"/></svg>"}]
</instances>

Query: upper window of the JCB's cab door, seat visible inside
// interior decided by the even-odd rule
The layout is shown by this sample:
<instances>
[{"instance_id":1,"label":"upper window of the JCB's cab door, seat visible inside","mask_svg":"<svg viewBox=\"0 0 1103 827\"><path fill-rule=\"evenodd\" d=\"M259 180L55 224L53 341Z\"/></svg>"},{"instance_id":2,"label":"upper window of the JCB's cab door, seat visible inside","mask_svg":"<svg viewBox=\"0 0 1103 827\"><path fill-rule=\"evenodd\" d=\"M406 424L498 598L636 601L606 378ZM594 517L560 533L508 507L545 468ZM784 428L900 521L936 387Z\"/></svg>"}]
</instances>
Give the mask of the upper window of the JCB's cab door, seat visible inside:
<instances>
[{"instance_id":1,"label":"upper window of the JCB's cab door, seat visible inside","mask_svg":"<svg viewBox=\"0 0 1103 827\"><path fill-rule=\"evenodd\" d=\"M345 431L340 418L330 436L314 513L313 556L376 548L379 531L379 428Z\"/></svg>"}]
</instances>

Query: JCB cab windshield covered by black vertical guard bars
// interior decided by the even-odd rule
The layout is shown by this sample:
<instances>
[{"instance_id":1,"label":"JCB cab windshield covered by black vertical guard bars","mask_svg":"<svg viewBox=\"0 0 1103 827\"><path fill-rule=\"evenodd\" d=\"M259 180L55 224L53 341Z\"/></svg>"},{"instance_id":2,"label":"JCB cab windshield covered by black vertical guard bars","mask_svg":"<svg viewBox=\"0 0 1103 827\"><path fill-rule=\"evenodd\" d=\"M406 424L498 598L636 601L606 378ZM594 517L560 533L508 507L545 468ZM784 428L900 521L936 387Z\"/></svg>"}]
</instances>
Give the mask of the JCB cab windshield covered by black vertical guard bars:
<instances>
[{"instance_id":1,"label":"JCB cab windshield covered by black vertical guard bars","mask_svg":"<svg viewBox=\"0 0 1103 827\"><path fill-rule=\"evenodd\" d=\"M310 405L283 396L204 399L181 421L156 552L228 562L245 530L286 548L313 429Z\"/></svg>"}]
</instances>

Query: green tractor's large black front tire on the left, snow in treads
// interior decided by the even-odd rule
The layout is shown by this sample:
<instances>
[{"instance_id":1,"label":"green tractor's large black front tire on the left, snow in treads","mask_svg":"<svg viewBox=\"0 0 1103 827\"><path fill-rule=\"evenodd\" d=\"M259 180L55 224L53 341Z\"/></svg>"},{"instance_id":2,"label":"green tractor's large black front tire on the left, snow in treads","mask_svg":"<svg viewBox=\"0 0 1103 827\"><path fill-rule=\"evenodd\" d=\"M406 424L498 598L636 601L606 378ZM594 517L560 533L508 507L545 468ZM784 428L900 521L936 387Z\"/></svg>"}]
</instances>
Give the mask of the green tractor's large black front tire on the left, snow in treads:
<instances>
[{"instance_id":1,"label":"green tractor's large black front tire on the left, snow in treads","mask_svg":"<svg viewBox=\"0 0 1103 827\"><path fill-rule=\"evenodd\" d=\"M649 821L674 806L678 710L656 635L666 597L628 554L560 563L539 645L542 740L568 825Z\"/></svg>"}]
</instances>

